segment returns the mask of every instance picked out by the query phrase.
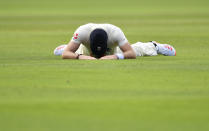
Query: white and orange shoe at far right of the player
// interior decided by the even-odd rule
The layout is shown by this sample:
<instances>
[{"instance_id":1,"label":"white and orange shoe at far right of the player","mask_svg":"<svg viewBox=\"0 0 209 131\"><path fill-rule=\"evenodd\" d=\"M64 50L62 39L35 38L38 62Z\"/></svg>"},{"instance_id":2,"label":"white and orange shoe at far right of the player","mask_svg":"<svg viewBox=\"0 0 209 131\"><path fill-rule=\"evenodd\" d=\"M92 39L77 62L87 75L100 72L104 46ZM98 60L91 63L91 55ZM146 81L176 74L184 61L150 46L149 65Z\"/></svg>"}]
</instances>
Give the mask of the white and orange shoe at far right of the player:
<instances>
[{"instance_id":1,"label":"white and orange shoe at far right of the player","mask_svg":"<svg viewBox=\"0 0 209 131\"><path fill-rule=\"evenodd\" d=\"M156 41L151 41L151 42L155 45L158 54L162 54L165 56L176 56L176 50L174 49L173 46L169 44L160 44L157 43Z\"/></svg>"}]
</instances>

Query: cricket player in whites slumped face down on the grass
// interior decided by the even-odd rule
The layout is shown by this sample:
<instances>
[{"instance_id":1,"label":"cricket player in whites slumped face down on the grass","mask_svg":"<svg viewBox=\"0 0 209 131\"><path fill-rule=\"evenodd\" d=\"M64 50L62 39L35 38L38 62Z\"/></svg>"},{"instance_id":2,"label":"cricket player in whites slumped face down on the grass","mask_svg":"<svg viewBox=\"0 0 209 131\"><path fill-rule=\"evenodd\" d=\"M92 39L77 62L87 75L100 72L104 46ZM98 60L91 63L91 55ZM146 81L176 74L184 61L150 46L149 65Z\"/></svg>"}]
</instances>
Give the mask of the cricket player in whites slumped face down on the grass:
<instances>
[{"instance_id":1,"label":"cricket player in whites slumped face down on the grass","mask_svg":"<svg viewBox=\"0 0 209 131\"><path fill-rule=\"evenodd\" d=\"M67 45L58 46L54 55L63 59L135 59L136 56L175 56L174 47L155 41L130 45L122 30L111 24L80 26Z\"/></svg>"}]
</instances>

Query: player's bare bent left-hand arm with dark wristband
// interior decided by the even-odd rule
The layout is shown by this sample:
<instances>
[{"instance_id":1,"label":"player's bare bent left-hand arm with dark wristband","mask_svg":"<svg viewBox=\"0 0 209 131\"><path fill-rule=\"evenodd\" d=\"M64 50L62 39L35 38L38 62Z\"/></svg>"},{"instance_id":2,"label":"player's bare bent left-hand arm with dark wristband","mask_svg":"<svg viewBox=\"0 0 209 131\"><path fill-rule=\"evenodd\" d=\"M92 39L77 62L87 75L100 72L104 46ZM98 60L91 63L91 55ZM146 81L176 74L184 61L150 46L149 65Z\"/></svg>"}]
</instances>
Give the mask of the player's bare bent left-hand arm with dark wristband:
<instances>
[{"instance_id":1,"label":"player's bare bent left-hand arm with dark wristband","mask_svg":"<svg viewBox=\"0 0 209 131\"><path fill-rule=\"evenodd\" d=\"M62 53L62 59L81 59L81 60L93 60L96 59L91 56L86 56L83 54L76 54L76 50L79 48L80 44L70 41L64 52Z\"/></svg>"}]
</instances>

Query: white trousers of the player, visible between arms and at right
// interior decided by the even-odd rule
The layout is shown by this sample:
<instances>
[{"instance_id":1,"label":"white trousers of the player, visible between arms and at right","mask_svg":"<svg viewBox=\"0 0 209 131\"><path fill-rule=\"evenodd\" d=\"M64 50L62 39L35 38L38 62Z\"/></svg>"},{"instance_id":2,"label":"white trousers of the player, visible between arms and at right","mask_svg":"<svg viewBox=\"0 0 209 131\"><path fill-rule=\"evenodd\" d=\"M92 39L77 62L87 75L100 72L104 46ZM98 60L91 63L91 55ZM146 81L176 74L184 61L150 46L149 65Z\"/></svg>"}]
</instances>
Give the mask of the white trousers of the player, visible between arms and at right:
<instances>
[{"instance_id":1,"label":"white trousers of the player, visible between arms and at right","mask_svg":"<svg viewBox=\"0 0 209 131\"><path fill-rule=\"evenodd\" d=\"M153 43L147 42L137 42L135 44L132 44L131 47L133 48L134 52L136 53L136 56L155 56L157 55L157 50ZM80 45L78 50L76 51L78 54L84 54L84 55L90 55L88 49L84 45ZM114 54L122 53L120 48L117 46Z\"/></svg>"}]
</instances>

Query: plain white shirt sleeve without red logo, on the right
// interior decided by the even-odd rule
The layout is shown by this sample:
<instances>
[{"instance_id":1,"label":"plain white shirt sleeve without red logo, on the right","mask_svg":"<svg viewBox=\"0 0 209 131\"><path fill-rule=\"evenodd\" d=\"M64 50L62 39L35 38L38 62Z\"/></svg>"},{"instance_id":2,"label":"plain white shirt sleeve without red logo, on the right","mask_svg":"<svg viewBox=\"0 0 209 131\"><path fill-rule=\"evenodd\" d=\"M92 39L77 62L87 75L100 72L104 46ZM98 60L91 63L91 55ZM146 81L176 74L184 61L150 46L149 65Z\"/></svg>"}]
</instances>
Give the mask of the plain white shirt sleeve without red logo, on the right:
<instances>
[{"instance_id":1,"label":"plain white shirt sleeve without red logo, on the right","mask_svg":"<svg viewBox=\"0 0 209 131\"><path fill-rule=\"evenodd\" d=\"M119 46L123 46L125 43L128 42L127 38L125 37L123 31L120 28L116 28L115 31L115 40Z\"/></svg>"}]
</instances>

